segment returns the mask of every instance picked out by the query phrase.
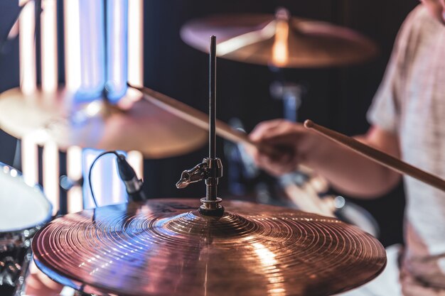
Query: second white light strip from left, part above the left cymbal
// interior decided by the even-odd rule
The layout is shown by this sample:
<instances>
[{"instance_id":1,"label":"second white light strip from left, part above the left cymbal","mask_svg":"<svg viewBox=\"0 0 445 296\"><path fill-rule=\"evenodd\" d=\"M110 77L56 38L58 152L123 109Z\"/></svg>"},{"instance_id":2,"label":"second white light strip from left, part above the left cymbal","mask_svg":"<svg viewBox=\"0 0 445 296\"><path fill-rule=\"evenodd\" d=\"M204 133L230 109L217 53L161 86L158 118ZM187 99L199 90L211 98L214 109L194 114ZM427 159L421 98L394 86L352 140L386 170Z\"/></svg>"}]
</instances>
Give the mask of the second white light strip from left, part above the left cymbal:
<instances>
[{"instance_id":1,"label":"second white light strip from left, part above the left cymbal","mask_svg":"<svg viewBox=\"0 0 445 296\"><path fill-rule=\"evenodd\" d=\"M41 14L41 59L43 92L55 92L58 87L57 62L57 1L43 0Z\"/></svg>"}]
</instances>

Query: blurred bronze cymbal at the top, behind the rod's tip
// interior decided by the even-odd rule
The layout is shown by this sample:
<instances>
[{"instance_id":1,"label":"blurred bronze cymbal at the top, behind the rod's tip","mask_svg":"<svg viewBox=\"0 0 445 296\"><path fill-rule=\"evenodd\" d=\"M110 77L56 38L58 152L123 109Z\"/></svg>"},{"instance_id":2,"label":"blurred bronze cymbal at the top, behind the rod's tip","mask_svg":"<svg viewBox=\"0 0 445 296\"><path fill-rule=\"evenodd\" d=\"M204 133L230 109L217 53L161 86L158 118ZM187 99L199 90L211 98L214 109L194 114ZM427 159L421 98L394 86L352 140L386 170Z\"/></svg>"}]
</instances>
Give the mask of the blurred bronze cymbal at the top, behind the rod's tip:
<instances>
[{"instance_id":1,"label":"blurred bronze cymbal at the top, behind the rod's tip","mask_svg":"<svg viewBox=\"0 0 445 296\"><path fill-rule=\"evenodd\" d=\"M185 43L208 53L208 36L218 37L217 55L276 67L329 67L370 59L377 47L353 30L331 23L277 14L225 14L198 18L181 29Z\"/></svg>"}]
</instances>

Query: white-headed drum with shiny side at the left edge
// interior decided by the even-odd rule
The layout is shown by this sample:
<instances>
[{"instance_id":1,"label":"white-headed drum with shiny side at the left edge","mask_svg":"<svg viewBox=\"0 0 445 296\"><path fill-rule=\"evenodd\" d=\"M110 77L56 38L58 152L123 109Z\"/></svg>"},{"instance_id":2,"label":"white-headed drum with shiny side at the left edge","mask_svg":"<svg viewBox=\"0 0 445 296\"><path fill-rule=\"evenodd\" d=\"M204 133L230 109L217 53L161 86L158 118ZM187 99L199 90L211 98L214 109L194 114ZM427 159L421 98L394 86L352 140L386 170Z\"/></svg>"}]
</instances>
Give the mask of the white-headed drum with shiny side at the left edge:
<instances>
[{"instance_id":1,"label":"white-headed drum with shiny side at the left edge","mask_svg":"<svg viewBox=\"0 0 445 296\"><path fill-rule=\"evenodd\" d=\"M0 163L0 286L23 290L31 261L31 239L51 219L41 187L27 185L18 170Z\"/></svg>"}]
</instances>

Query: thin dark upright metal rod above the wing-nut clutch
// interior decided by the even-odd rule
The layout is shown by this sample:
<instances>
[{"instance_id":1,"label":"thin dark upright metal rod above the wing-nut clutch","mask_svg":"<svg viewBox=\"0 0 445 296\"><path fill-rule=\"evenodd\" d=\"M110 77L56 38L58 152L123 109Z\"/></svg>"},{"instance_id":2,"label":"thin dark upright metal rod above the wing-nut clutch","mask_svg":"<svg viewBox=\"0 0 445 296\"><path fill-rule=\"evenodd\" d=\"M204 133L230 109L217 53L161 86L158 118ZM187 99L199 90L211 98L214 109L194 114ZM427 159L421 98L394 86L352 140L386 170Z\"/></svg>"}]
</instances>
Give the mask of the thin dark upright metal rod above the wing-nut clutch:
<instances>
[{"instance_id":1,"label":"thin dark upright metal rod above the wing-nut clutch","mask_svg":"<svg viewBox=\"0 0 445 296\"><path fill-rule=\"evenodd\" d=\"M216 37L210 37L209 72L209 151L208 157L216 158Z\"/></svg>"}]
</instances>

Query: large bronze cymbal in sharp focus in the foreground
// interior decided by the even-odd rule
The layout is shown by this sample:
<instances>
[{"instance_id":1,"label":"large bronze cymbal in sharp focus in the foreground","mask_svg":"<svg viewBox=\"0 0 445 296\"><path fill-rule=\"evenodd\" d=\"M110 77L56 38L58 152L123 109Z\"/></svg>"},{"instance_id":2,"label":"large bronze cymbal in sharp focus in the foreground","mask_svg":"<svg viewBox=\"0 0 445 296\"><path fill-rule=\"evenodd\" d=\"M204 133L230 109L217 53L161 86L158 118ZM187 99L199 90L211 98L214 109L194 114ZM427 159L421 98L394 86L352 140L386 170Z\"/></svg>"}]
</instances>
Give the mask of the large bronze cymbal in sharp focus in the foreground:
<instances>
[{"instance_id":1,"label":"large bronze cymbal in sharp focus in the foreground","mask_svg":"<svg viewBox=\"0 0 445 296\"><path fill-rule=\"evenodd\" d=\"M337 219L250 202L201 216L196 199L86 209L34 236L50 278L99 295L331 295L375 278L385 249Z\"/></svg>"}]
</instances>

